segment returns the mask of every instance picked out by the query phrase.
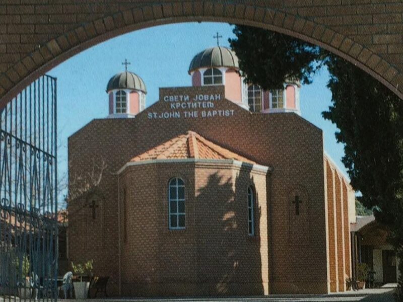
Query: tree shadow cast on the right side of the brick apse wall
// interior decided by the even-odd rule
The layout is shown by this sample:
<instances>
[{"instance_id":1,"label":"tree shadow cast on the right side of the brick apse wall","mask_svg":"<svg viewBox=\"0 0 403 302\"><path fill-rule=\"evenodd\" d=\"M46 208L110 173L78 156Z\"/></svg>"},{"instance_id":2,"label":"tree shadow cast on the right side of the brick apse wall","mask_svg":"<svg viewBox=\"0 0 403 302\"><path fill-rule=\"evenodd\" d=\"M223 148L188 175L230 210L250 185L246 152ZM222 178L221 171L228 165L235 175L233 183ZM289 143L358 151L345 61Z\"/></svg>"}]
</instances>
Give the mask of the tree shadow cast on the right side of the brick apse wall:
<instances>
[{"instance_id":1,"label":"tree shadow cast on the right side of the brick apse wall","mask_svg":"<svg viewBox=\"0 0 403 302\"><path fill-rule=\"evenodd\" d=\"M250 171L235 181L210 175L196 197L197 277L207 295L263 294L259 236L248 235L247 188ZM257 195L257 194L256 194ZM256 205L257 203L255 203ZM200 211L200 207L205 210ZM260 209L255 206L255 234L260 234ZM264 256L263 256L264 257Z\"/></svg>"}]
</instances>

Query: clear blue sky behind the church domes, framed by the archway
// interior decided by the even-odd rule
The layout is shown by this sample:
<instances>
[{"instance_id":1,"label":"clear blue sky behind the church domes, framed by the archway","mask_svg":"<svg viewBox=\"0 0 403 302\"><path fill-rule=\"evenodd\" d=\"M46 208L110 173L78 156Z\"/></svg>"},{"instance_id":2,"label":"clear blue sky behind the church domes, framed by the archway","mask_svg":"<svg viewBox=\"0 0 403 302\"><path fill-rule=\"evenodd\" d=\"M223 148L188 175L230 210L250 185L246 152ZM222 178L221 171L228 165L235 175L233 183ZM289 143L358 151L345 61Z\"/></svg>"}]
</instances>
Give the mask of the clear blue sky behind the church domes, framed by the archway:
<instances>
[{"instance_id":1,"label":"clear blue sky behind the church domes, framed by the archway","mask_svg":"<svg viewBox=\"0 0 403 302\"><path fill-rule=\"evenodd\" d=\"M58 79L58 135L62 143L59 172L67 169L67 138L92 119L107 116L106 85L112 75L124 70L125 58L131 62L128 69L146 83L150 106L158 100L159 87L191 85L189 63L197 52L216 45L216 32L223 36L220 45L229 46L228 38L234 34L225 23L180 23L143 29L98 44L50 70L48 74ZM323 130L326 152L345 172L341 163L343 145L334 138L337 128L321 117L331 105L328 78L327 70L322 69L311 85L302 86L301 112Z\"/></svg>"}]
</instances>

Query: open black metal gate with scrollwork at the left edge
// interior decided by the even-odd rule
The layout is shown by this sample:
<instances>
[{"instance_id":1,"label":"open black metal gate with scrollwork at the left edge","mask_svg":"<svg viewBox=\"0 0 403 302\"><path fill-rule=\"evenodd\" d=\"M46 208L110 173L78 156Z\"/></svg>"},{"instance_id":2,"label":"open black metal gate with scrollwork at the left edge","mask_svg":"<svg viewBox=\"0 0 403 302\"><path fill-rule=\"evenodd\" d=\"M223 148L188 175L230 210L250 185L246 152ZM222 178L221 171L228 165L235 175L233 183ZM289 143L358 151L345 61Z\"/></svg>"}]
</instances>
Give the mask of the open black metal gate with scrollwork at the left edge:
<instances>
[{"instance_id":1,"label":"open black metal gate with scrollwork at the left edge","mask_svg":"<svg viewBox=\"0 0 403 302\"><path fill-rule=\"evenodd\" d=\"M56 79L0 111L0 301L57 300Z\"/></svg>"}]
</instances>

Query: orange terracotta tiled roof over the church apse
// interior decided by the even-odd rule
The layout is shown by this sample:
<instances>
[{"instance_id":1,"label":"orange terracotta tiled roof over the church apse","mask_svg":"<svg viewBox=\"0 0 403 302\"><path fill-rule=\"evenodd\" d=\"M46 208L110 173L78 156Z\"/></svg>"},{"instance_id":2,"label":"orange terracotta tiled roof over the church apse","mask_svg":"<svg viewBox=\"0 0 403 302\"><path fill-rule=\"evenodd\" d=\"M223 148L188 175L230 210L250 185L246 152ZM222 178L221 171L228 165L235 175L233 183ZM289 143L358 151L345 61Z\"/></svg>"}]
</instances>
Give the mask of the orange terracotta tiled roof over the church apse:
<instances>
[{"instance_id":1,"label":"orange terracotta tiled roof over the church apse","mask_svg":"<svg viewBox=\"0 0 403 302\"><path fill-rule=\"evenodd\" d=\"M223 148L196 132L188 131L136 156L130 162L166 159L236 160L256 164L230 150Z\"/></svg>"}]
</instances>

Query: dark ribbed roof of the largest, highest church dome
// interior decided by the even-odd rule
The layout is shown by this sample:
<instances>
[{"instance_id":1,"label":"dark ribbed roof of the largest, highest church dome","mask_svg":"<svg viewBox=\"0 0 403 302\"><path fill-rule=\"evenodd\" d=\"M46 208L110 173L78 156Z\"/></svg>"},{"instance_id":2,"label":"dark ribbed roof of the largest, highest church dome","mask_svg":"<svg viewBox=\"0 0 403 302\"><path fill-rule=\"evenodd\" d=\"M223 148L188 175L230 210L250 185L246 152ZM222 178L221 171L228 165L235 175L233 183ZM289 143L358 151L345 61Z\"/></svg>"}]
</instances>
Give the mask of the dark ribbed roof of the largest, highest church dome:
<instances>
[{"instance_id":1,"label":"dark ribbed roof of the largest, highest church dome","mask_svg":"<svg viewBox=\"0 0 403 302\"><path fill-rule=\"evenodd\" d=\"M227 47L207 48L194 56L189 66L189 73L203 67L233 67L239 69L238 57Z\"/></svg>"}]
</instances>

